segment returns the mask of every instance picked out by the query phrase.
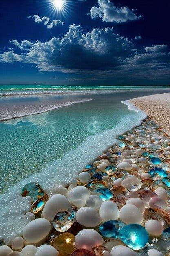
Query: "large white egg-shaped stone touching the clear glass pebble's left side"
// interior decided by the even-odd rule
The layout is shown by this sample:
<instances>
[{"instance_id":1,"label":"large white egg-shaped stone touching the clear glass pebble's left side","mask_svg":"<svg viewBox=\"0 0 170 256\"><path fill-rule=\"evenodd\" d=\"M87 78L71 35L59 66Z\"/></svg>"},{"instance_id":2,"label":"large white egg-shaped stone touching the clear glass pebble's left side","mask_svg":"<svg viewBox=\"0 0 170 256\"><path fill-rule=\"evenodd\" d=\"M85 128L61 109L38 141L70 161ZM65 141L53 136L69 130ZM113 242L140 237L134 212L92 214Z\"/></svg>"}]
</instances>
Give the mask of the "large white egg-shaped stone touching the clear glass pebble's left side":
<instances>
[{"instance_id":1,"label":"large white egg-shaped stone touching the clear glass pebble's left side","mask_svg":"<svg viewBox=\"0 0 170 256\"><path fill-rule=\"evenodd\" d=\"M41 217L53 221L57 213L67 211L69 207L70 202L65 195L53 195L46 202Z\"/></svg>"}]
</instances>

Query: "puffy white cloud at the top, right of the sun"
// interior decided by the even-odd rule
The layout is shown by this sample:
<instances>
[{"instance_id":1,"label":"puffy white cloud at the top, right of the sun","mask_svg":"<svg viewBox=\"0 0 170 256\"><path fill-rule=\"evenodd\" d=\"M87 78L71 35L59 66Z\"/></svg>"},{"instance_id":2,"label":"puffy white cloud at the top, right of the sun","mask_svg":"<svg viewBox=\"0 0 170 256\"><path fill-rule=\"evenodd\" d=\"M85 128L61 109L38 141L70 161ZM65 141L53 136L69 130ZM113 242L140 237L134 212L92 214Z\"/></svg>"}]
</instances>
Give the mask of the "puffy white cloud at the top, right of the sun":
<instances>
[{"instance_id":1,"label":"puffy white cloud at the top, right of the sun","mask_svg":"<svg viewBox=\"0 0 170 256\"><path fill-rule=\"evenodd\" d=\"M110 0L98 0L98 6L91 8L90 13L92 19L102 18L103 22L127 22L130 20L138 20L142 16L137 16L134 10L126 7L116 7Z\"/></svg>"}]
</instances>

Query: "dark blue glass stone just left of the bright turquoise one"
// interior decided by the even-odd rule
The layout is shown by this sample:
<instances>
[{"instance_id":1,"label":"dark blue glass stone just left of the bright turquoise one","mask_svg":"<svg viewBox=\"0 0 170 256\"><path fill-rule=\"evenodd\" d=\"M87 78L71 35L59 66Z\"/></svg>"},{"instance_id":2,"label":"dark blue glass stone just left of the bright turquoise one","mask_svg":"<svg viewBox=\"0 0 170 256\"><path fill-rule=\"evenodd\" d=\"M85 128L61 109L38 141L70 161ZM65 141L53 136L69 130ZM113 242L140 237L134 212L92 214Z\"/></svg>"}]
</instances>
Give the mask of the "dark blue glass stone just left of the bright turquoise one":
<instances>
[{"instance_id":1,"label":"dark blue glass stone just left of the bright turquoise one","mask_svg":"<svg viewBox=\"0 0 170 256\"><path fill-rule=\"evenodd\" d=\"M119 235L119 230L124 226L126 226L126 224L122 221L109 220L100 225L99 231L102 236L117 239Z\"/></svg>"}]
</instances>

